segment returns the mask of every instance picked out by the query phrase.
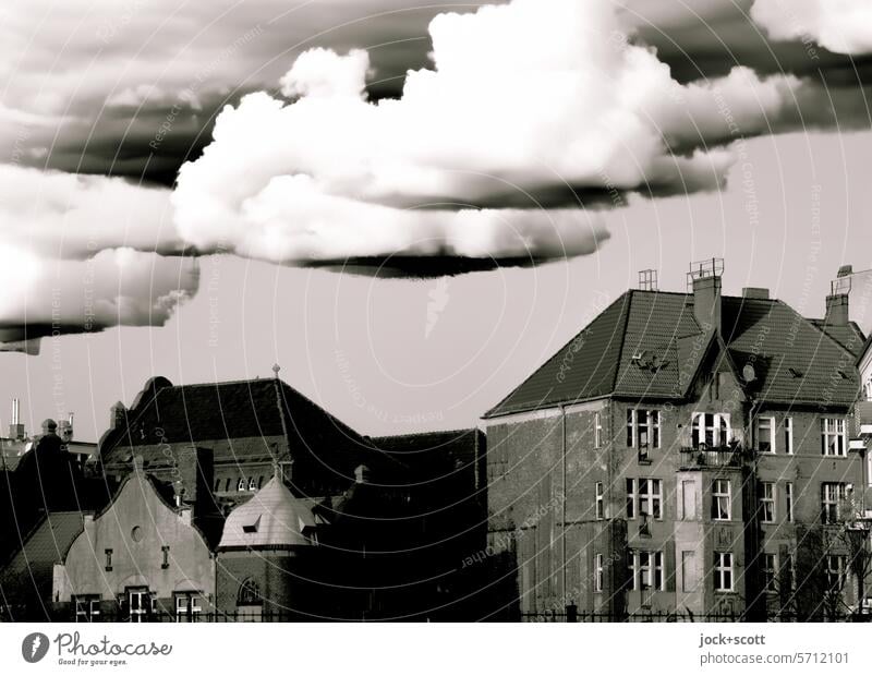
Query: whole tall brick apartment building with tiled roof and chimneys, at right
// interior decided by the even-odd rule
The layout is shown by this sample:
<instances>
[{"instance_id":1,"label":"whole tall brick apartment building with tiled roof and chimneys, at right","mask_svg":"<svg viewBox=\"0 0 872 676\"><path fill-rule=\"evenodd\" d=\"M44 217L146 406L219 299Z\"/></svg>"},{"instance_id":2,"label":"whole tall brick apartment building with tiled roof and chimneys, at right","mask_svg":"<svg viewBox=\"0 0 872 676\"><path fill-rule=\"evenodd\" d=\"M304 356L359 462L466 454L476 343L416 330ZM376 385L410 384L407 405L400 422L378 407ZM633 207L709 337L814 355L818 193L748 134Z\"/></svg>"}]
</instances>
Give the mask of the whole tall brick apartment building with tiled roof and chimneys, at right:
<instances>
[{"instance_id":1,"label":"whole tall brick apartment building with tiled roof and chimneys, at right","mask_svg":"<svg viewBox=\"0 0 872 676\"><path fill-rule=\"evenodd\" d=\"M494 617L836 617L863 336L765 289L630 290L484 417Z\"/></svg>"}]
</instances>

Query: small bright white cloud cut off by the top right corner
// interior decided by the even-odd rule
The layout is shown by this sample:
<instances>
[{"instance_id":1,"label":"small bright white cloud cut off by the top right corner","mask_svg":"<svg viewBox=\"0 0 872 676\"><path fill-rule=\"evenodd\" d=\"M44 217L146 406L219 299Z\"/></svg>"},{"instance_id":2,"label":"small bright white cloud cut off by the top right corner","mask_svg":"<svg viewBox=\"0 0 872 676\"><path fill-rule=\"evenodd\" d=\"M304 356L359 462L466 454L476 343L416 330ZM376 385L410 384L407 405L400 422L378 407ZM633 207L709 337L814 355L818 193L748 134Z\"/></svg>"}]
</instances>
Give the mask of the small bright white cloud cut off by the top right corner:
<instances>
[{"instance_id":1,"label":"small bright white cloud cut off by the top right corner","mask_svg":"<svg viewBox=\"0 0 872 676\"><path fill-rule=\"evenodd\" d=\"M776 40L814 40L845 55L872 52L869 0L755 0L751 19Z\"/></svg>"}]
</instances>

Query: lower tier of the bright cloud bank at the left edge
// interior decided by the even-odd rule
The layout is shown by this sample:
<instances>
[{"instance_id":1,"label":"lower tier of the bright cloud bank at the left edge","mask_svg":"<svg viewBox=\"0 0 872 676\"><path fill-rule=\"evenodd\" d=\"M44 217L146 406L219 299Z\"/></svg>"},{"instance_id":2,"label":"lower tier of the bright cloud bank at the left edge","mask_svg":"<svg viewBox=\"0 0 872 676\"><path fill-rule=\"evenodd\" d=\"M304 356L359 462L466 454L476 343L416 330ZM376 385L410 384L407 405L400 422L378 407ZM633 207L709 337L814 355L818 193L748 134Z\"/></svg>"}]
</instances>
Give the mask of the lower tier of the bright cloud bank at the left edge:
<instances>
[{"instance_id":1,"label":"lower tier of the bright cloud bank at the left edge","mask_svg":"<svg viewBox=\"0 0 872 676\"><path fill-rule=\"evenodd\" d=\"M45 336L162 326L198 281L191 258L110 249L85 261L46 259L0 244L0 350Z\"/></svg>"}]
</instances>

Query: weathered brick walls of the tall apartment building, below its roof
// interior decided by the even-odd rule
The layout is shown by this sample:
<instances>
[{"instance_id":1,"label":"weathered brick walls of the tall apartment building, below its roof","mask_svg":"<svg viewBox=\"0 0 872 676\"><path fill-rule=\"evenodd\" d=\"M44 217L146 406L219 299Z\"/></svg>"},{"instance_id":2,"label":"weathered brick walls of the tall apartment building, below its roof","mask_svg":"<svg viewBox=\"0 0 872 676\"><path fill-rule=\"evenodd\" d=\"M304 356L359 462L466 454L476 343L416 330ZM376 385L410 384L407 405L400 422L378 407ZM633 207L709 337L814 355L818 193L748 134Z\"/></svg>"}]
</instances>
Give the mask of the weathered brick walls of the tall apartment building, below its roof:
<instances>
[{"instance_id":1,"label":"weathered brick walls of the tall apartment building, below its roof","mask_svg":"<svg viewBox=\"0 0 872 676\"><path fill-rule=\"evenodd\" d=\"M628 445L627 415L632 409L659 412L658 447L650 444L640 452ZM600 448L594 444L597 411ZM729 430L720 445L732 442L751 449L759 446L758 419L771 418L775 452L752 452L741 462L700 467L698 456L689 452L695 413L728 417ZM488 553L504 570L513 569L509 576L517 590L516 616L560 613L566 605L577 605L582 613L608 614L747 611L762 617L800 612L798 596L820 590L801 584L797 589L798 546L809 548L816 538L829 542L820 548L819 560L845 554L837 539L826 535L835 529L821 522L822 484L859 487L861 463L847 452L847 433L844 457L822 452L822 419L846 420L847 410L755 405L753 418L751 413L751 403L722 362L700 378L689 402L609 399L567 407L565 418L561 409L554 408L487 421ZM792 454L786 448L787 418L792 425ZM635 514L628 514L628 480L634 480L637 493L658 485L657 516L639 514L638 495ZM729 484L729 518L724 520L714 519L713 490L718 480ZM597 483L604 493L600 512ZM787 484L792 484L792 519ZM773 495L774 519L768 523L762 493L773 488L774 494L767 495ZM626 527L615 529L616 522ZM800 544L798 527L803 533L821 535L799 535L804 539ZM643 589L639 578L635 586L632 582L634 564L635 575L646 575L647 553L661 555L656 589ZM724 586L718 584L716 569L722 553L731 556L729 591L717 589ZM637 555L643 557L641 562L634 559ZM654 559L650 560L653 565ZM770 572L773 564L775 570ZM821 577L820 567L815 575ZM600 578L602 592L595 591ZM846 605L853 602L850 583L844 588L844 600Z\"/></svg>"}]
</instances>

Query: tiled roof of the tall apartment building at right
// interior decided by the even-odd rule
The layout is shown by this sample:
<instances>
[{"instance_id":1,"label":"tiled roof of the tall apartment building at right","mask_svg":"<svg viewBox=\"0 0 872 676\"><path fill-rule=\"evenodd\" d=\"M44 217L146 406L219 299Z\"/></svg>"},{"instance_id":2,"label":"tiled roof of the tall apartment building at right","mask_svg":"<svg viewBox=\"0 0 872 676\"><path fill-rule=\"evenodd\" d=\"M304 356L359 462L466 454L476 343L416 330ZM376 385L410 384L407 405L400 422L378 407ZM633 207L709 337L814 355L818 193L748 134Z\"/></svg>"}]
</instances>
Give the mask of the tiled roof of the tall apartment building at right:
<instances>
[{"instance_id":1,"label":"tiled roof of the tall apartment building at right","mask_svg":"<svg viewBox=\"0 0 872 676\"><path fill-rule=\"evenodd\" d=\"M856 325L824 329L780 301L722 299L726 358L741 370L754 355L755 396L768 401L851 403L857 352L841 341L853 331L862 345ZM689 384L682 372L699 366L710 339L692 294L627 291L485 418L604 396L680 398Z\"/></svg>"}]
</instances>

